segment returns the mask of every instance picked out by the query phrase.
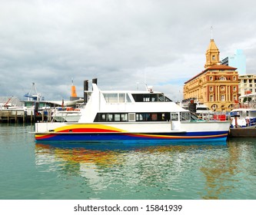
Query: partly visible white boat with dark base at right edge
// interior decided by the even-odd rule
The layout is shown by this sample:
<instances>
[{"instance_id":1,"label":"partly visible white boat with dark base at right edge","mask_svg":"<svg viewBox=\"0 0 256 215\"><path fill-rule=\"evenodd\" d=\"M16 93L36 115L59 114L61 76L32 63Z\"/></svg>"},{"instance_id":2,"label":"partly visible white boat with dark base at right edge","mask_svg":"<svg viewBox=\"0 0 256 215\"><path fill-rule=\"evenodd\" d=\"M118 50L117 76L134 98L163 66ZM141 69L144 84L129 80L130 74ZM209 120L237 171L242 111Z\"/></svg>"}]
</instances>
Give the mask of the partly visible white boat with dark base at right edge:
<instances>
[{"instance_id":1,"label":"partly visible white boat with dark base at right edge","mask_svg":"<svg viewBox=\"0 0 256 215\"><path fill-rule=\"evenodd\" d=\"M236 104L231 111L231 137L256 137L256 94L246 94L239 98L251 98Z\"/></svg>"}]
</instances>

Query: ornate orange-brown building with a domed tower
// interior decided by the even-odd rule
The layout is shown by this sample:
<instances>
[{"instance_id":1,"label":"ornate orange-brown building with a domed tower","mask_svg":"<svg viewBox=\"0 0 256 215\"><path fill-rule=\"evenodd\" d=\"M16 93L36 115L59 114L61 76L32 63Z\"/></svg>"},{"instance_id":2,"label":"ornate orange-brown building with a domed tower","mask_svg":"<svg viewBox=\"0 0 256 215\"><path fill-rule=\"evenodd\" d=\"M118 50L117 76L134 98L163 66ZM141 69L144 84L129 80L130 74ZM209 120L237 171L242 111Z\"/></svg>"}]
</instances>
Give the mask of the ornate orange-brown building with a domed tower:
<instances>
[{"instance_id":1,"label":"ornate orange-brown building with a domed tower","mask_svg":"<svg viewBox=\"0 0 256 215\"><path fill-rule=\"evenodd\" d=\"M204 71L184 84L184 99L196 98L212 111L231 111L234 102L238 101L237 68L220 63L220 51L213 38L205 56Z\"/></svg>"}]
</instances>

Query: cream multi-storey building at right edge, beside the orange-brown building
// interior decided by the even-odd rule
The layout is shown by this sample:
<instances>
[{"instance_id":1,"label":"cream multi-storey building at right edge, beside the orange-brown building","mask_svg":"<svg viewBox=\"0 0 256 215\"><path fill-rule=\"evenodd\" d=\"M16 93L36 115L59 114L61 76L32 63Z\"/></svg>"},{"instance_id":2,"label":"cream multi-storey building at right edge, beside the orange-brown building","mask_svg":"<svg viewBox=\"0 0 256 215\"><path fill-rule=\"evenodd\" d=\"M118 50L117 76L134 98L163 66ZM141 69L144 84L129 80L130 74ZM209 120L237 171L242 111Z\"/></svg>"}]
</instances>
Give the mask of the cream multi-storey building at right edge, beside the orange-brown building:
<instances>
[{"instance_id":1,"label":"cream multi-storey building at right edge, beside the orange-brown building","mask_svg":"<svg viewBox=\"0 0 256 215\"><path fill-rule=\"evenodd\" d=\"M239 80L239 96L244 94L256 93L256 74L240 74Z\"/></svg>"}]
</instances>

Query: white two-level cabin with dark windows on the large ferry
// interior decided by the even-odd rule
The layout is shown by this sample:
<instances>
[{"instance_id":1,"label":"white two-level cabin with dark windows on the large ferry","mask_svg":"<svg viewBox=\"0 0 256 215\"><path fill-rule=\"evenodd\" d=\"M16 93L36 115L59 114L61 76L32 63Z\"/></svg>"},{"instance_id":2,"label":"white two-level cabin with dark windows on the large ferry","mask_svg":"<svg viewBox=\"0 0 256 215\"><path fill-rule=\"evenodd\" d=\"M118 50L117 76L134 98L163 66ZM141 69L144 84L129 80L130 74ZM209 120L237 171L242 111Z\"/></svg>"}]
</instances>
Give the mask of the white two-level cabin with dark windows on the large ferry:
<instances>
[{"instance_id":1,"label":"white two-level cabin with dark windows on the large ferry","mask_svg":"<svg viewBox=\"0 0 256 215\"><path fill-rule=\"evenodd\" d=\"M93 89L93 91L88 91L90 93L88 98L93 97L98 88L95 86ZM170 98L161 92L98 90L96 95L88 101L88 103L91 102L88 107L95 107L91 109L91 112L97 110L95 117L91 119L93 122L198 120L198 117L175 104L175 102L171 101Z\"/></svg>"}]
</instances>

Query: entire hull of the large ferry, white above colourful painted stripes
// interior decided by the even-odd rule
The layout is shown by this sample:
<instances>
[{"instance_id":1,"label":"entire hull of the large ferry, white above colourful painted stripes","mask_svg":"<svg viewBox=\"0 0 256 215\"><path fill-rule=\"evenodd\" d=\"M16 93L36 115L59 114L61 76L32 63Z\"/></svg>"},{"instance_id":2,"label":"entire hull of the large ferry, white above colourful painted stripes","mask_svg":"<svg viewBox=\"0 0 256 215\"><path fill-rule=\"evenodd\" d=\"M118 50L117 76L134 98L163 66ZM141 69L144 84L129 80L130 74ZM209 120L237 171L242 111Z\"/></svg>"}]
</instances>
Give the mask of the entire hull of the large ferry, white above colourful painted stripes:
<instances>
[{"instance_id":1,"label":"entire hull of the large ferry, white above colourful painted stripes","mask_svg":"<svg viewBox=\"0 0 256 215\"><path fill-rule=\"evenodd\" d=\"M226 141L229 122L36 124L36 141ZM172 129L175 128L175 129ZM188 132L189 131L189 132Z\"/></svg>"}]
</instances>

